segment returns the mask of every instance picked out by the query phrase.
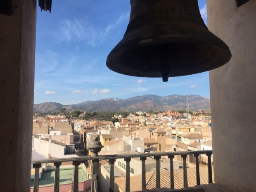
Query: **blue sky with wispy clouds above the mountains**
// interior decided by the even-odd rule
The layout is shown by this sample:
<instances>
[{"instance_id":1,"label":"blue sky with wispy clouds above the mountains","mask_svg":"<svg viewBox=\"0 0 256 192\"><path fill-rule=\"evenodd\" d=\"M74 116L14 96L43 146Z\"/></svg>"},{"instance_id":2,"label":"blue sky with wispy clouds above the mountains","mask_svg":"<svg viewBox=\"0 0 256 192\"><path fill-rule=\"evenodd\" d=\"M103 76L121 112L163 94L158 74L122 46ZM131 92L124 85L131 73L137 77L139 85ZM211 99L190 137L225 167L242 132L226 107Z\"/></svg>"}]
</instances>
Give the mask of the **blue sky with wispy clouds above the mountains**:
<instances>
[{"instance_id":1,"label":"blue sky with wispy clouds above the mountains","mask_svg":"<svg viewBox=\"0 0 256 192\"><path fill-rule=\"evenodd\" d=\"M198 2L206 22L206 0ZM145 94L209 97L208 72L162 82L107 68L107 55L126 31L129 0L52 0L52 13L37 11L35 104Z\"/></svg>"}]
</instances>

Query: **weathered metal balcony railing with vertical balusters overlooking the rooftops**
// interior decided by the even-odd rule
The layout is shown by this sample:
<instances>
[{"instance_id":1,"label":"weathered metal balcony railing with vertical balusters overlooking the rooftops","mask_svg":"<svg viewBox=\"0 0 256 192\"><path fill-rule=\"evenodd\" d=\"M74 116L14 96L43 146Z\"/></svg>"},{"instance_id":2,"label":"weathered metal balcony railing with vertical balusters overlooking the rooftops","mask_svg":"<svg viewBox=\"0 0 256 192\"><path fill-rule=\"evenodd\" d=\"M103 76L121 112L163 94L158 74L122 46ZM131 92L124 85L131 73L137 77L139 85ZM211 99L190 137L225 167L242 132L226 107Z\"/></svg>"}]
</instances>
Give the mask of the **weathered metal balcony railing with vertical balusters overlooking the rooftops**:
<instances>
[{"instance_id":1,"label":"weathered metal balcony railing with vertical balusters overlooking the rooftops","mask_svg":"<svg viewBox=\"0 0 256 192\"><path fill-rule=\"evenodd\" d=\"M35 178L34 178L34 187L33 192L39 191L39 169L42 164L53 163L55 165L55 183L54 183L54 192L59 192L59 167L62 165L62 162L72 161L74 166L74 179L73 179L73 192L78 192L78 166L85 161L92 162L92 182L91 182L91 191L98 192L100 191L99 186L99 161L101 159L108 160L110 164L110 183L109 183L109 191L114 192L116 191L116 187L114 189L114 162L116 159L124 159L126 161L126 177L125 177L125 191L130 192L131 185L130 185L130 161L131 158L140 158L142 162L141 170L141 189L146 190L146 168L145 168L145 160L149 157L153 157L156 162L155 173L153 174L152 178L155 179L155 188L161 188L161 179L160 179L160 159L161 156L168 156L170 159L170 180L169 186L170 190L175 189L174 183L174 169L173 169L173 159L175 156L180 155L183 159L183 187L188 187L188 177L187 177L187 156L193 155L195 157L196 162L196 174L194 177L196 178L196 185L200 185L200 172L199 172L199 155L204 154L208 157L208 183L213 183L212 179L212 166L211 166L211 155L212 151L186 151L186 152L159 152L159 153L141 153L141 154L123 154L123 155L104 155L98 156L97 153L94 153L93 156L81 156L75 158L63 158L63 159L49 159L49 160L38 160L32 161L33 168L35 168ZM182 178L180 178L181 180ZM137 182L136 182L137 183ZM152 188L152 187L151 187Z\"/></svg>"}]
</instances>

